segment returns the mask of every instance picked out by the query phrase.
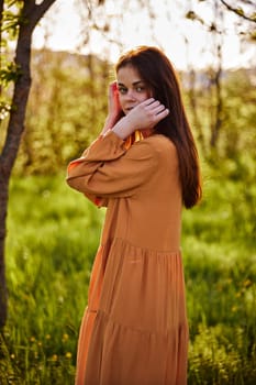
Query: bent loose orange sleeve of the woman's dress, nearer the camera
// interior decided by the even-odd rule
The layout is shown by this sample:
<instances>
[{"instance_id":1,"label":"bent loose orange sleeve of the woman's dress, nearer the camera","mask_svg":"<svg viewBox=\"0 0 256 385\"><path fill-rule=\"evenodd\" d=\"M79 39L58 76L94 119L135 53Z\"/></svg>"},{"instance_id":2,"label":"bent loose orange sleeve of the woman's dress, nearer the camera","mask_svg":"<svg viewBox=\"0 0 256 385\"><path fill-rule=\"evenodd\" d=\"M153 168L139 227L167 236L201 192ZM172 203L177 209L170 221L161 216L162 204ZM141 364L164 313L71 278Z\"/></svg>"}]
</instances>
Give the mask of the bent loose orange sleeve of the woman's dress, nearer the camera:
<instances>
[{"instance_id":1,"label":"bent loose orange sleeve of the woman's dress, nearer the camera","mask_svg":"<svg viewBox=\"0 0 256 385\"><path fill-rule=\"evenodd\" d=\"M157 154L146 140L126 150L124 141L110 131L69 163L67 184L85 195L130 197L156 168Z\"/></svg>"}]
</instances>

